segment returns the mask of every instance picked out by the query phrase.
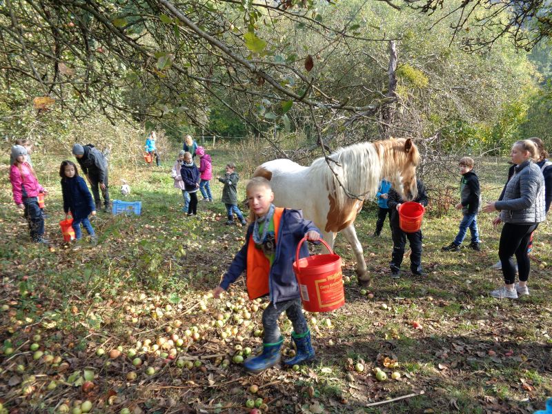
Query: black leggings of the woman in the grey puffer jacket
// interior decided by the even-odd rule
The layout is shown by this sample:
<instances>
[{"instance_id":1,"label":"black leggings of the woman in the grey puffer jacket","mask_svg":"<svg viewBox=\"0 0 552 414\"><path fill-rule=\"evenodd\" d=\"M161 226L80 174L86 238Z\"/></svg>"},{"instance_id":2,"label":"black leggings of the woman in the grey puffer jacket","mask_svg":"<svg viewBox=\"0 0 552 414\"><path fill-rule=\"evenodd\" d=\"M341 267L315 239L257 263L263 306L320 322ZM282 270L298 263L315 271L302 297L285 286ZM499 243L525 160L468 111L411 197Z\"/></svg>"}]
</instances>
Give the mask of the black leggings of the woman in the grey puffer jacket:
<instances>
[{"instance_id":1,"label":"black leggings of the woman in the grey puffer jacket","mask_svg":"<svg viewBox=\"0 0 552 414\"><path fill-rule=\"evenodd\" d=\"M498 244L498 257L502 263L502 275L505 284L515 282L515 264L513 255L517 261L517 271L520 274L520 282L527 282L531 262L529 261L529 240L531 234L536 230L538 224L511 224L506 223L500 233Z\"/></svg>"}]
</instances>

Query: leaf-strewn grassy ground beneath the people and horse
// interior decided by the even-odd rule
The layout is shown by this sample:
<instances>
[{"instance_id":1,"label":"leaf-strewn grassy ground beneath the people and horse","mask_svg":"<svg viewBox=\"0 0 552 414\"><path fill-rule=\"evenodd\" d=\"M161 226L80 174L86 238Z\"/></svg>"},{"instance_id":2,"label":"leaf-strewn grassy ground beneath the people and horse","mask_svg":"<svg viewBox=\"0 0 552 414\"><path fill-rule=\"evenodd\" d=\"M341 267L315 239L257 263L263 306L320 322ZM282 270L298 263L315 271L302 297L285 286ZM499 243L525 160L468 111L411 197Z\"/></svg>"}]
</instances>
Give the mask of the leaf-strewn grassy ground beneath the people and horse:
<instances>
[{"instance_id":1,"label":"leaf-strewn grassy ground beneath the people and horse","mask_svg":"<svg viewBox=\"0 0 552 414\"><path fill-rule=\"evenodd\" d=\"M223 172L227 161L239 161L231 159L228 150L208 152L215 160L215 174ZM338 237L335 250L343 257L344 274L353 280L346 284L345 306L315 315L318 323L311 324L311 329L317 360L299 372L274 369L249 377L239 365L224 366L223 361L238 352L238 344L260 346L261 340L252 333L262 326L262 308L254 311L253 304L242 297L242 282L225 299L208 296L243 243L244 228L224 225L224 205L200 202L201 218L188 219L180 211L180 191L172 188L172 161L161 168L114 166L112 198L120 198L117 183L126 179L132 188L127 199L142 201L142 215L100 213L93 222L98 246L86 242L67 246L57 226L63 218L59 181L46 173L57 170L59 159L54 155L35 159L41 184L50 190L46 228L51 248L27 242L26 225L10 199L9 185L0 183L0 305L6 305L0 313L0 386L4 390L0 402L10 409L53 413L61 404L72 406L88 399L98 413L119 413L125 407L170 413L182 406L190 412L211 413L216 412L215 404L221 404L225 413L244 413L245 400L251 397L248 386L253 383L262 387L257 395L264 398L270 413L293 413L296 407L301 410L315 402L328 413L529 413L543 408L545 398L552 395L552 282L549 268L539 268L542 262L552 262L549 223L542 224L535 237L531 297L504 302L488 295L502 282L501 274L489 268L497 259L500 237L491 217L480 215L481 253L466 249L443 253L440 247L453 239L460 213L435 217L430 210L424 219L422 256L428 277L411 279L406 273L394 281L388 274L389 230L384 228L377 239L370 236L377 213L373 204L366 204L355 226L373 275L374 299L360 295L353 255ZM506 167L504 174L497 172L499 168L502 164L481 169L486 199L500 191ZM242 177L239 183L242 196L244 181ZM219 200L221 184L216 180L211 184ZM408 268L408 253L403 266ZM250 322L233 322L235 314L244 319L244 308L252 315ZM222 328L213 326L218 313L232 315ZM331 327L322 323L325 317L331 319ZM181 325L177 327L176 321ZM420 322L422 329L413 328L413 321ZM289 348L292 326L284 318L281 322ZM186 337L186 329L193 327L200 334L197 341ZM224 337L225 330L233 328L237 333ZM177 368L151 347L138 349L143 362L138 368L126 357L110 361L96 355L99 348L110 351L121 346L127 352L139 348L137 341L155 343L173 334L186 337L187 345L177 347L179 357L204 357L202 368ZM41 339L35 341L34 335ZM33 342L61 362L33 359ZM7 348L14 353L6 355ZM398 366L386 367L385 357L397 359ZM364 359L364 373L354 371L359 359ZM17 371L17 366L23 366L23 371ZM148 366L155 368L155 375L146 374ZM88 393L68 382L85 367L95 373L94 391ZM388 376L399 371L402 377L377 382L375 367ZM137 380L126 380L130 372L137 373ZM347 374L353 375L354 382L347 380ZM30 375L34 375L32 392L21 394L21 383L29 381ZM8 383L12 377L21 381ZM50 381L57 382L53 391L46 389ZM308 386L315 388L313 397ZM366 406L420 390L424 395ZM106 395L113 392L110 397L117 400L111 398L110 403Z\"/></svg>"}]
</instances>

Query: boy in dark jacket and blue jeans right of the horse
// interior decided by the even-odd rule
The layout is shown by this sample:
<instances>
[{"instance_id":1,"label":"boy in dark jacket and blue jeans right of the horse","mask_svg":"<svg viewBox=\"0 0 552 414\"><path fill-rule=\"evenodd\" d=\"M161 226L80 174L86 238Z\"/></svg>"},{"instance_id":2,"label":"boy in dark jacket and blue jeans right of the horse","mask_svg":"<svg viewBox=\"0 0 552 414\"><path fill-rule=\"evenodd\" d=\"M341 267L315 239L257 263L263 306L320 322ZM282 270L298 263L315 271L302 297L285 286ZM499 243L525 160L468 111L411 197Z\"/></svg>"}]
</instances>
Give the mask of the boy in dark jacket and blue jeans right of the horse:
<instances>
[{"instance_id":1,"label":"boy in dark jacket and blue jeans right of the horse","mask_svg":"<svg viewBox=\"0 0 552 414\"><path fill-rule=\"evenodd\" d=\"M481 190L479 179L473 172L473 158L463 157L460 159L460 203L456 204L457 210L462 209L462 221L460 221L460 230L449 246L441 248L444 252L457 252L460 250L460 244L464 241L468 228L471 233L471 243L469 248L480 251L479 230L477 230L477 212L481 206Z\"/></svg>"}]
</instances>

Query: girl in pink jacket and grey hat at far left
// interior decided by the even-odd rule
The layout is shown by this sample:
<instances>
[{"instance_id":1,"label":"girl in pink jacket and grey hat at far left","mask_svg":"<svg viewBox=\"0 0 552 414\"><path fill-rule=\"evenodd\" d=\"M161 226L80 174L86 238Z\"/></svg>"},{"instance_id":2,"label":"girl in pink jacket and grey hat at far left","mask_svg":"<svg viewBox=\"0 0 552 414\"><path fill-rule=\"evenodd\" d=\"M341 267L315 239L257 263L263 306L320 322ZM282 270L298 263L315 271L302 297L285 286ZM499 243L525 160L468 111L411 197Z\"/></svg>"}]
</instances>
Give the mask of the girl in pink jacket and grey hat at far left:
<instances>
[{"instance_id":1,"label":"girl in pink jacket and grey hat at far left","mask_svg":"<svg viewBox=\"0 0 552 414\"><path fill-rule=\"evenodd\" d=\"M44 217L39 207L39 193L48 194L39 184L37 175L27 162L27 150L20 145L12 146L14 163L10 168L13 200L17 208L24 211L29 224L30 238L35 243L46 243L44 239Z\"/></svg>"}]
</instances>

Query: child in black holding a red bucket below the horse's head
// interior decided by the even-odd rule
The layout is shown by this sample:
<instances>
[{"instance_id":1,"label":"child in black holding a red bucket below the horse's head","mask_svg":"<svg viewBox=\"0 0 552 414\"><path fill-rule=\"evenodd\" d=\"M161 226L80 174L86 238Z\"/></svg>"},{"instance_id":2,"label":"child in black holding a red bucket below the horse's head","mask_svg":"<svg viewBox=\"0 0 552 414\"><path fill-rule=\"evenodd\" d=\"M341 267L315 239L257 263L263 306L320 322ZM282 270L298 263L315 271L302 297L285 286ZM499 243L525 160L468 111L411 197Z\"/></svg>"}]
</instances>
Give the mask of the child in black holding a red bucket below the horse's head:
<instances>
[{"instance_id":1,"label":"child in black holding a red bucket below the horse's head","mask_svg":"<svg viewBox=\"0 0 552 414\"><path fill-rule=\"evenodd\" d=\"M428 199L426 188L422 181L416 180L417 196L413 201L427 206ZM404 257L404 246L406 239L410 244L410 268L415 276L426 276L422 269L422 230L417 230L414 233L405 233L400 228L399 224L399 207L404 203L404 199L397 193L395 188L390 188L387 198L387 206L391 210L391 237L393 238L393 253L391 254L391 277L398 279L400 277L402 259Z\"/></svg>"}]
</instances>

